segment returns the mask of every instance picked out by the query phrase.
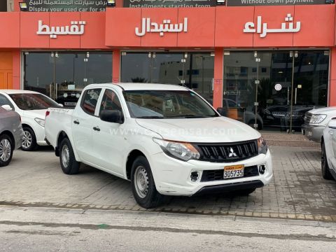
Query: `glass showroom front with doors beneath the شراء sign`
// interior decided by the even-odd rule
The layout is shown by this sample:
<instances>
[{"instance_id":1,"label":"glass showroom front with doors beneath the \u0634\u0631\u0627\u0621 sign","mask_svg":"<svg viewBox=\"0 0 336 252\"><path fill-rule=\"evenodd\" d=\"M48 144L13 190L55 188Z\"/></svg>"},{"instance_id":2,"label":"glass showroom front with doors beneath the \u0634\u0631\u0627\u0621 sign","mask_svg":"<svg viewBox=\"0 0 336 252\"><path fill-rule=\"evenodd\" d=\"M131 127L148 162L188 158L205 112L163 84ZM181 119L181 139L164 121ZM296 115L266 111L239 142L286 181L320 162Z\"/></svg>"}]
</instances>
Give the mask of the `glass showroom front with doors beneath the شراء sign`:
<instances>
[{"instance_id":1,"label":"glass showroom front with doors beneath the \u0634\u0631\u0627\u0621 sign","mask_svg":"<svg viewBox=\"0 0 336 252\"><path fill-rule=\"evenodd\" d=\"M223 107L259 130L299 131L327 106L329 50L224 52Z\"/></svg>"}]
</instances>

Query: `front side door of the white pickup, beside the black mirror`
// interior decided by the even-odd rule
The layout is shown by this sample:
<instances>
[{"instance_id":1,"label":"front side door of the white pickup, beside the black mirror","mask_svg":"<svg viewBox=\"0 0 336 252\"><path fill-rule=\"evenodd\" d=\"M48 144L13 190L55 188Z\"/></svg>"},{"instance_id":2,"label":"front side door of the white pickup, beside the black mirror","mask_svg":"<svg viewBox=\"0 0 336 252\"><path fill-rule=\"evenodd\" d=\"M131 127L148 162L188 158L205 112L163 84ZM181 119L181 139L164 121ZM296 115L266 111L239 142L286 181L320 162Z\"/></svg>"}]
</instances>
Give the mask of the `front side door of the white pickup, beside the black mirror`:
<instances>
[{"instance_id":1,"label":"front side door of the white pickup, beside the black mirror","mask_svg":"<svg viewBox=\"0 0 336 252\"><path fill-rule=\"evenodd\" d=\"M92 137L96 164L123 176L123 155L125 155L125 144L127 144L125 125L105 122L99 118L102 111L120 111L123 115L120 99L117 92L106 88L102 102L99 104L98 116L92 120L94 122Z\"/></svg>"}]
</instances>

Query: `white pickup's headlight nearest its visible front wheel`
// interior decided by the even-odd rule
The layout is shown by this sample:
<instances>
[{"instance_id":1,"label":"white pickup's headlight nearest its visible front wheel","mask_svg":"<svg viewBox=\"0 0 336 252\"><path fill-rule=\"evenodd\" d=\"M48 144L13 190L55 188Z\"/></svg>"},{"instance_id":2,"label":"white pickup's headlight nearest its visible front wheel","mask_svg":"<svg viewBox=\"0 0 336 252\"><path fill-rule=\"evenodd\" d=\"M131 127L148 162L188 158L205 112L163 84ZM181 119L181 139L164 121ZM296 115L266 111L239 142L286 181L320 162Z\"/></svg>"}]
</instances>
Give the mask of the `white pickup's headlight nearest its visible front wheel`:
<instances>
[{"instance_id":1,"label":"white pickup's headlight nearest its visible front wheel","mask_svg":"<svg viewBox=\"0 0 336 252\"><path fill-rule=\"evenodd\" d=\"M168 141L155 137L153 137L153 141L162 148L164 153L172 158L177 158L183 161L198 160L200 158L200 153L192 144L178 141Z\"/></svg>"}]
</instances>

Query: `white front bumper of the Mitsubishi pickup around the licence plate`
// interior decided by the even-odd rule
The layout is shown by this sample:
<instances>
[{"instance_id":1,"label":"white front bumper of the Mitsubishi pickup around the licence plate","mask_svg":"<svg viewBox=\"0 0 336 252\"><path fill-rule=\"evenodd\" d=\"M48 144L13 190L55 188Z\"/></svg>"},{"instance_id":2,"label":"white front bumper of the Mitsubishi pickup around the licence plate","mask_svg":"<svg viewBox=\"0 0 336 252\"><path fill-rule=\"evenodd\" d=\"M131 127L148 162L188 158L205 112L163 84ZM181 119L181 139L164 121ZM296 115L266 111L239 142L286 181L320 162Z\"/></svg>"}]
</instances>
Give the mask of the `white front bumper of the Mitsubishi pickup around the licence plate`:
<instances>
[{"instance_id":1,"label":"white front bumper of the Mitsubishi pickup around the licence plate","mask_svg":"<svg viewBox=\"0 0 336 252\"><path fill-rule=\"evenodd\" d=\"M272 157L267 154L260 154L247 160L239 162L204 162L198 160L189 160L183 162L171 158L165 153L152 155L150 160L153 172L155 186L162 195L180 195L192 196L195 194L213 193L218 190L223 193L230 190L243 190L248 188L259 188L267 185L273 176ZM201 181L202 174L206 170L223 170L225 166L244 165L252 167L265 165L265 173L256 176L241 177L237 179L221 179L216 181ZM197 181L192 181L191 173L199 174ZM253 181L258 181L255 183Z\"/></svg>"}]
</instances>

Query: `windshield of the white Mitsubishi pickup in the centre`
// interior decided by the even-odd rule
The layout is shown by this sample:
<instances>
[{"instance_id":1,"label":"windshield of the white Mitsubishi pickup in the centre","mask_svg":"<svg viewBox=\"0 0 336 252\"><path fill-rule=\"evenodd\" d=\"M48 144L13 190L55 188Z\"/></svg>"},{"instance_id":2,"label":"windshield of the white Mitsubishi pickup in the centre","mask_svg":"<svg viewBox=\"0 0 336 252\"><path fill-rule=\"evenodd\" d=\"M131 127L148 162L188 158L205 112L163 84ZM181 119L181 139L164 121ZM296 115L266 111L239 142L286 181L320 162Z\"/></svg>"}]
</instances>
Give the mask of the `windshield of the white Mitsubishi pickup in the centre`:
<instances>
[{"instance_id":1,"label":"windshield of the white Mitsubishi pickup in the centre","mask_svg":"<svg viewBox=\"0 0 336 252\"><path fill-rule=\"evenodd\" d=\"M183 90L124 92L132 118L208 118L218 114L202 98Z\"/></svg>"}]
</instances>

